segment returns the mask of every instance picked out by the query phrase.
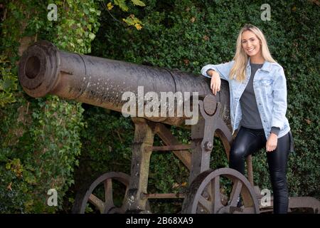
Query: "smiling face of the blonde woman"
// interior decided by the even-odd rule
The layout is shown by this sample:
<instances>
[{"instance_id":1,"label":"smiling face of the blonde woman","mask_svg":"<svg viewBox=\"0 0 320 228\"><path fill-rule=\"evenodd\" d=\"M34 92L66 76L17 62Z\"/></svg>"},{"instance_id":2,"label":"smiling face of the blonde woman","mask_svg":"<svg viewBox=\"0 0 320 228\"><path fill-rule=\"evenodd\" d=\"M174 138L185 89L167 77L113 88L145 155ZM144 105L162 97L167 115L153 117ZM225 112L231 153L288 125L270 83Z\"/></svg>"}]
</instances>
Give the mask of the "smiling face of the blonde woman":
<instances>
[{"instance_id":1,"label":"smiling face of the blonde woman","mask_svg":"<svg viewBox=\"0 0 320 228\"><path fill-rule=\"evenodd\" d=\"M241 44L245 53L251 58L260 58L262 56L261 41L255 36L255 33L252 33L252 31L244 31L242 33Z\"/></svg>"}]
</instances>

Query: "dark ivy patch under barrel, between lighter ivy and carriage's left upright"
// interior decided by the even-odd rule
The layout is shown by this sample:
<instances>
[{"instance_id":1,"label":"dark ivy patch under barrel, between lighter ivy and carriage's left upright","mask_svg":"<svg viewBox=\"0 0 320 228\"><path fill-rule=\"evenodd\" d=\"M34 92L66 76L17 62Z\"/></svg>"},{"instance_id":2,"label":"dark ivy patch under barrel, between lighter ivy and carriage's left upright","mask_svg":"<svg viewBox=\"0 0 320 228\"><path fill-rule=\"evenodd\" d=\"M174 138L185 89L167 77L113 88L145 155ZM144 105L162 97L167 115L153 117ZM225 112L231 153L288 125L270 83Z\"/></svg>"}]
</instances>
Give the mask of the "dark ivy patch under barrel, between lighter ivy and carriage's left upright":
<instances>
[{"instance_id":1,"label":"dark ivy patch under barrel, between lighter ivy and carriage's left upright","mask_svg":"<svg viewBox=\"0 0 320 228\"><path fill-rule=\"evenodd\" d=\"M85 182L85 178L102 172L129 173L134 133L132 122L120 113L92 105L84 106L86 126L81 133L78 181Z\"/></svg>"}]
</instances>

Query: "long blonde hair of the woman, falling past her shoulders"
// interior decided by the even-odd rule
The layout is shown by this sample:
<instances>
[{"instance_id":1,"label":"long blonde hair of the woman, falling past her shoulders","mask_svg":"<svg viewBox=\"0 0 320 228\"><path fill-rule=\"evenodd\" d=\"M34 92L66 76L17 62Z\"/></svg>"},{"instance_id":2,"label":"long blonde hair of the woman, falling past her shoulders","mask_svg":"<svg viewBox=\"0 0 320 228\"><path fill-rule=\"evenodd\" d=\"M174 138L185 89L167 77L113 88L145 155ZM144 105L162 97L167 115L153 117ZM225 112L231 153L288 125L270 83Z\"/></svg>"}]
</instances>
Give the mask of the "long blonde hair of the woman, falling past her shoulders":
<instances>
[{"instance_id":1,"label":"long blonde hair of the woman, falling past her shoulders","mask_svg":"<svg viewBox=\"0 0 320 228\"><path fill-rule=\"evenodd\" d=\"M233 64L233 68L231 68L229 78L233 79L235 76L235 80L237 81L243 81L245 80L245 68L247 66L247 60L248 56L245 53L245 51L242 48L241 43L241 35L244 31L252 31L252 33L255 33L255 36L260 40L261 42L261 53L262 57L265 58L265 61L269 61L271 63L274 63L274 59L272 58L269 48L267 46L267 40L265 39L265 36L263 35L262 31L257 28L256 26L252 26L251 24L246 24L241 28L238 38L237 38L237 47L235 50L235 57L233 57L233 60L235 63Z\"/></svg>"}]
</instances>

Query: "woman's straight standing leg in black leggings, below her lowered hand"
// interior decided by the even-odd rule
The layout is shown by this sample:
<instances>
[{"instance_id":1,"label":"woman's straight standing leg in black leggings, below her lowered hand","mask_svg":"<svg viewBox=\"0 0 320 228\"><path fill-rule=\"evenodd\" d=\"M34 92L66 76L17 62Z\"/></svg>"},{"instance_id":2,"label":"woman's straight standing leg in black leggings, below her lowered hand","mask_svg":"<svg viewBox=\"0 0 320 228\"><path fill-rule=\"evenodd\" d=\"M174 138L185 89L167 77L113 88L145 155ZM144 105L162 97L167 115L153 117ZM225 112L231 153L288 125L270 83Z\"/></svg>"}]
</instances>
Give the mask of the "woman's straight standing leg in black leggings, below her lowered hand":
<instances>
[{"instance_id":1,"label":"woman's straight standing leg in black leggings, below her lowered hand","mask_svg":"<svg viewBox=\"0 0 320 228\"><path fill-rule=\"evenodd\" d=\"M289 153L289 133L278 139L277 148L267 152L267 160L273 189L274 214L288 212L289 195L287 187L287 159Z\"/></svg>"}]
</instances>

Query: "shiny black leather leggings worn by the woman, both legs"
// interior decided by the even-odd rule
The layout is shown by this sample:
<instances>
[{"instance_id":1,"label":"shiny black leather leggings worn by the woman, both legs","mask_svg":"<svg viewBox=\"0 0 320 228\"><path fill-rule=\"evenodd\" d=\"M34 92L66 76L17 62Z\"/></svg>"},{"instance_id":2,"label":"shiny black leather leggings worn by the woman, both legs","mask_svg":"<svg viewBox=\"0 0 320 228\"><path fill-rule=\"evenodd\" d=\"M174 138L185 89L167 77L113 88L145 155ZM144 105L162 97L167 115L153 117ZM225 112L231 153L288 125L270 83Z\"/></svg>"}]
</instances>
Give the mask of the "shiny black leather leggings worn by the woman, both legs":
<instances>
[{"instance_id":1,"label":"shiny black leather leggings worn by the woman, both legs","mask_svg":"<svg viewBox=\"0 0 320 228\"><path fill-rule=\"evenodd\" d=\"M245 174L245 158L265 147L267 140L263 129L241 127L230 150L229 167ZM273 190L274 214L288 211L289 196L287 187L287 157L289 154L290 138L287 135L278 138L277 148L267 152L267 161Z\"/></svg>"}]
</instances>

